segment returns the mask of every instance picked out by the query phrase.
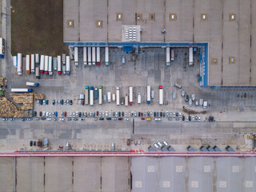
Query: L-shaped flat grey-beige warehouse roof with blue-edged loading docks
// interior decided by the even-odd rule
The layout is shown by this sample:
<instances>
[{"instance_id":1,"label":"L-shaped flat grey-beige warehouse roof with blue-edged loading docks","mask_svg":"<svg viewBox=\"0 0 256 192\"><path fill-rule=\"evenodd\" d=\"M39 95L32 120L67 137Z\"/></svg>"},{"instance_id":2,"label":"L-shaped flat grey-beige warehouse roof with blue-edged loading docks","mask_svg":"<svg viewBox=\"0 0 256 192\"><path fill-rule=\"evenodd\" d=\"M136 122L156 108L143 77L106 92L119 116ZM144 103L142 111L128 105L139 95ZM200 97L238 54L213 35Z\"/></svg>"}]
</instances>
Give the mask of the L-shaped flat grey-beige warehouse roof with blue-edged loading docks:
<instances>
[{"instance_id":1,"label":"L-shaped flat grey-beige warehouse roof with blue-edged loading docks","mask_svg":"<svg viewBox=\"0 0 256 192\"><path fill-rule=\"evenodd\" d=\"M78 5L78 0L64 0L64 42L121 42L122 25L138 25L141 42L209 42L209 85L256 85L255 1L164 2L80 0ZM117 14L122 14L122 21ZM135 14L142 19L136 21ZM149 14L155 14L155 21ZM170 21L170 14L177 19ZM230 14L235 14L234 21ZM74 19L74 28L67 27L70 19ZM102 21L102 28L96 27L97 20ZM234 64L230 64L231 57ZM212 64L212 59L218 59L218 64Z\"/></svg>"}]
</instances>

